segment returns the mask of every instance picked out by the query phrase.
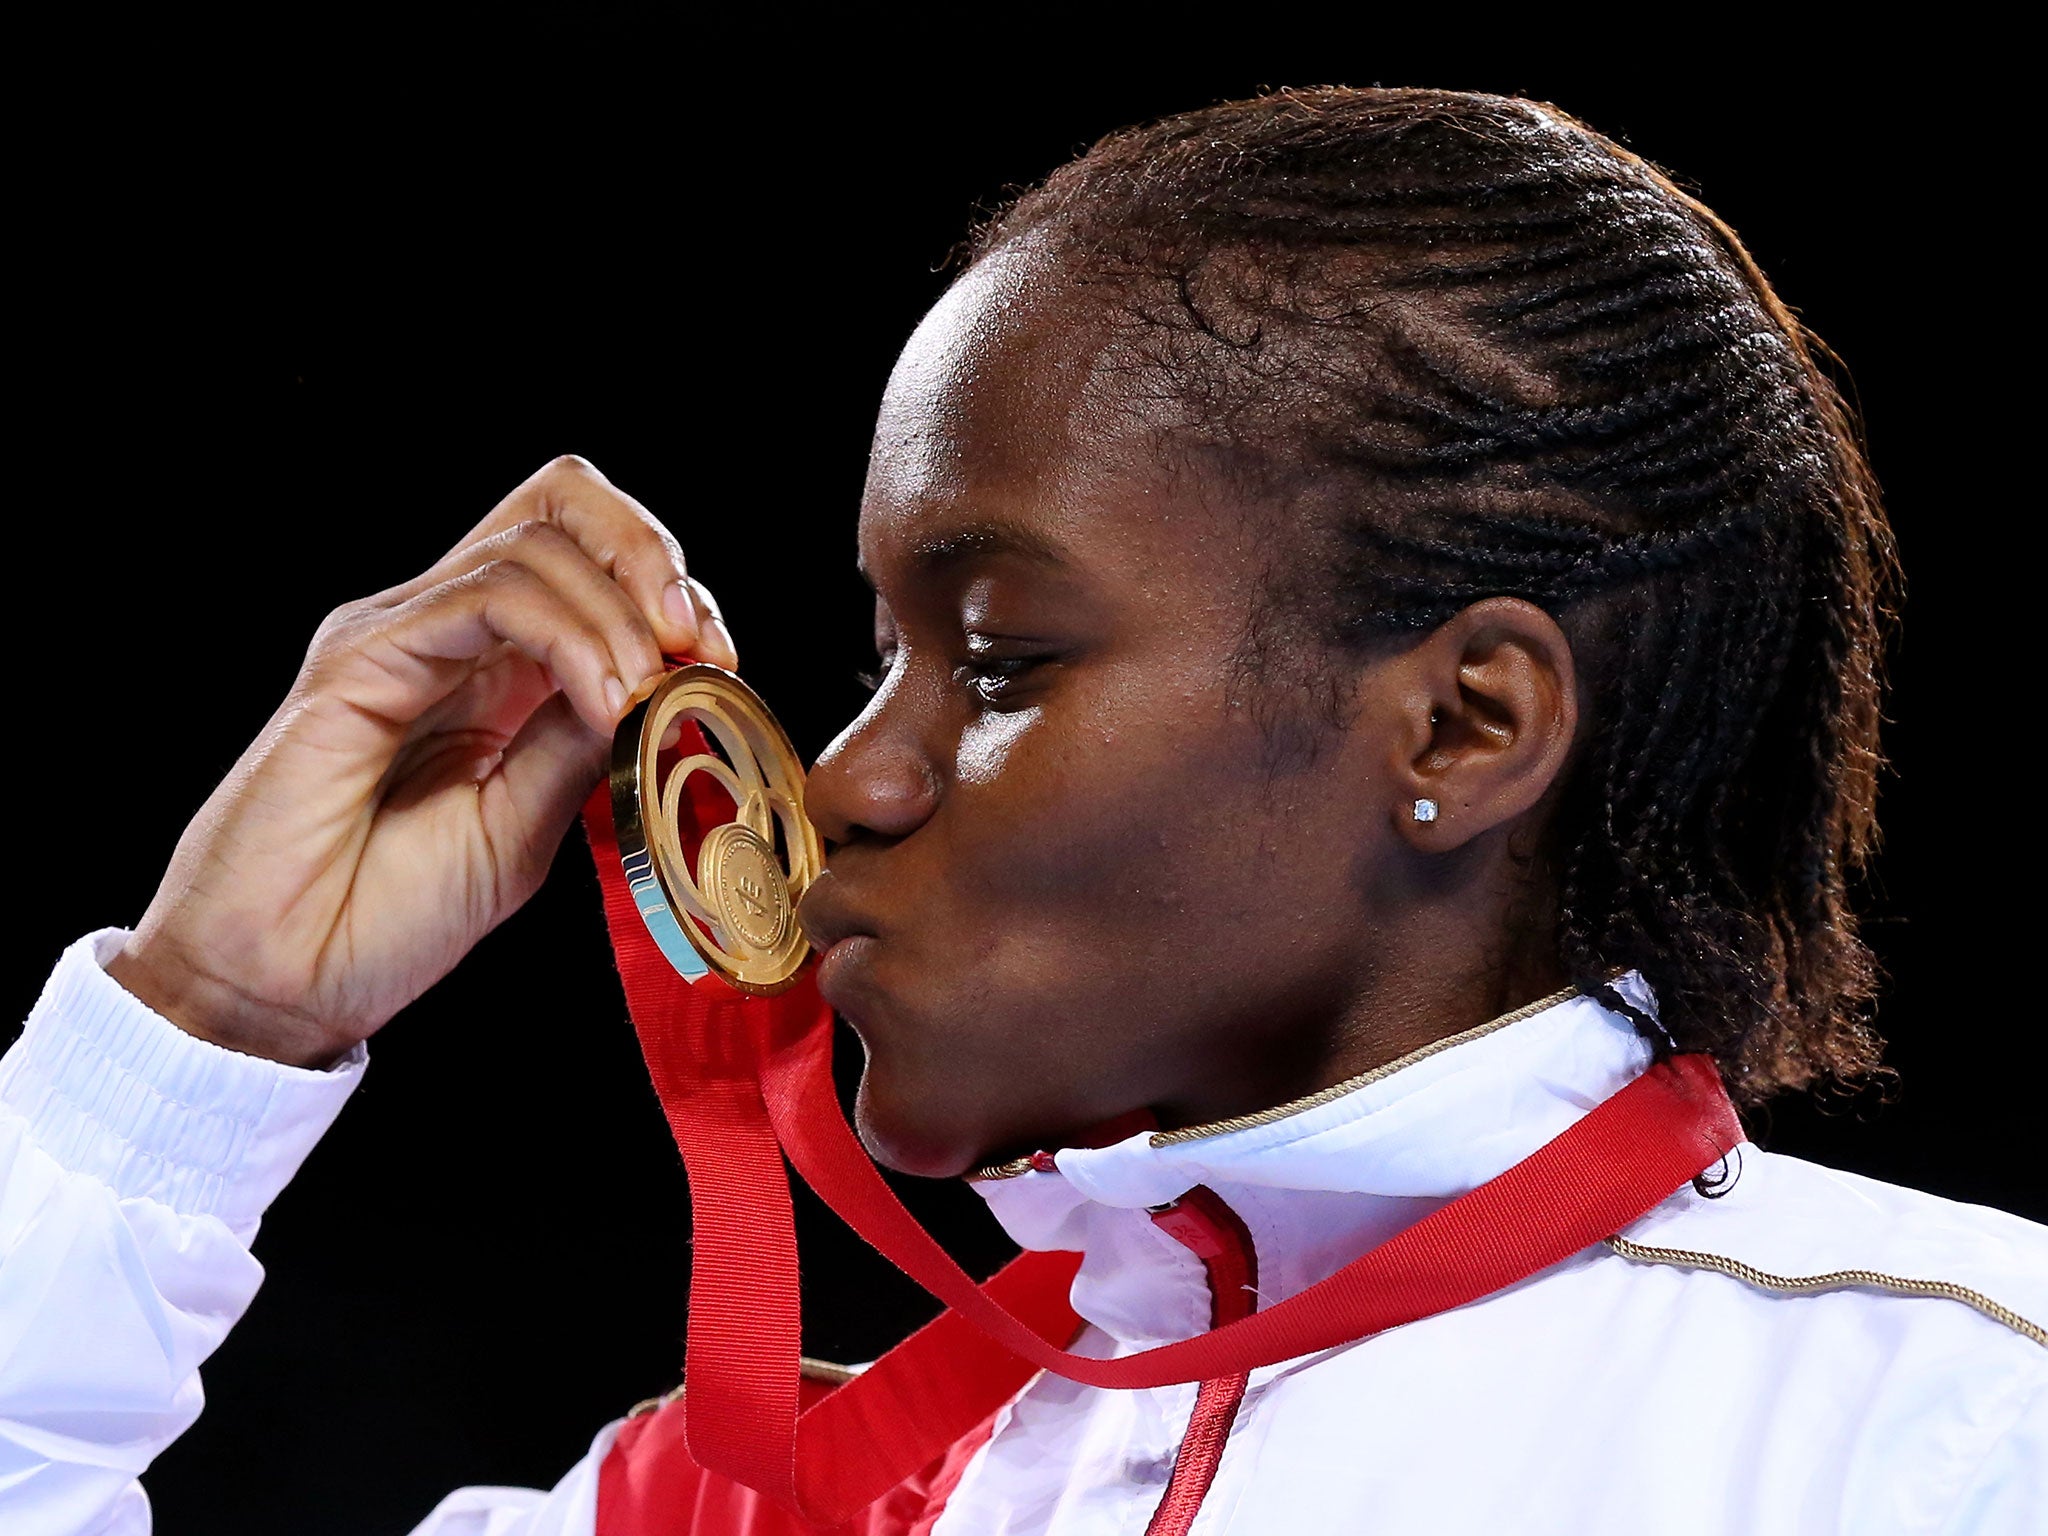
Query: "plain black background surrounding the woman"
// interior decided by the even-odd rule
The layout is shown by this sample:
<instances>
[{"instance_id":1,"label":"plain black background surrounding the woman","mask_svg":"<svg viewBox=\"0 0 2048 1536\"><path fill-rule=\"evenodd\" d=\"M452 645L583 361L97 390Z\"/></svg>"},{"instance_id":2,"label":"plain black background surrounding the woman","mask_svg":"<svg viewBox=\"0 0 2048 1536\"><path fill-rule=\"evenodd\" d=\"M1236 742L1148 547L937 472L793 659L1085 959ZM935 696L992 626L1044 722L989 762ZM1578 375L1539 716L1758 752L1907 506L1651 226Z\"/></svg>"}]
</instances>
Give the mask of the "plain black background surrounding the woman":
<instances>
[{"instance_id":1,"label":"plain black background surrounding the woman","mask_svg":"<svg viewBox=\"0 0 2048 1536\"><path fill-rule=\"evenodd\" d=\"M989 18L995 20L993 14ZM498 8L432 31L31 39L16 139L8 999L133 922L178 829L334 604L410 575L575 451L682 537L805 758L858 707L854 506L895 350L979 205L1128 121L1266 84L1546 96L1749 240L1860 385L1911 578L1872 936L1896 1102L1778 1106L1782 1151L2001 1204L2034 858L1999 741L2032 705L2019 344L1993 90L1888 57L1614 35L1204 49L952 27L682 35ZM915 31L915 35L911 35ZM1473 29L1477 31L1477 27ZM995 37L991 31L989 37ZM1681 59L1681 61L1679 61ZM999 1251L961 1188L920 1208ZM868 1358L915 1294L805 1206L809 1348ZM375 1042L264 1225L270 1278L150 1477L160 1530L403 1532L461 1483L547 1485L680 1368L686 1200L596 883L551 885Z\"/></svg>"}]
</instances>

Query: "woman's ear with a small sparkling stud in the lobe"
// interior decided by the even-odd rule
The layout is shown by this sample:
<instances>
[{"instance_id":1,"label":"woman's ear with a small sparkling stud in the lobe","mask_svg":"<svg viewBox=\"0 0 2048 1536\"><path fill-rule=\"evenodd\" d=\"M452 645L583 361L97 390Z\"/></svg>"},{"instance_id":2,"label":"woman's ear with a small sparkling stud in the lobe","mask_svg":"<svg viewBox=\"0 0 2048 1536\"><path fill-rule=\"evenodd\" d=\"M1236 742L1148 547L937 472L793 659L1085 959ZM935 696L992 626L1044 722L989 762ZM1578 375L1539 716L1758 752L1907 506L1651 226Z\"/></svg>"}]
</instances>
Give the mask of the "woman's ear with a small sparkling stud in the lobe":
<instances>
[{"instance_id":1,"label":"woman's ear with a small sparkling stud in the lobe","mask_svg":"<svg viewBox=\"0 0 2048 1536\"><path fill-rule=\"evenodd\" d=\"M1571 643L1522 598L1487 598L1401 657L1389 807L1419 852L1448 852L1507 825L1556 782L1579 727ZM1427 801L1417 817L1417 803Z\"/></svg>"}]
</instances>

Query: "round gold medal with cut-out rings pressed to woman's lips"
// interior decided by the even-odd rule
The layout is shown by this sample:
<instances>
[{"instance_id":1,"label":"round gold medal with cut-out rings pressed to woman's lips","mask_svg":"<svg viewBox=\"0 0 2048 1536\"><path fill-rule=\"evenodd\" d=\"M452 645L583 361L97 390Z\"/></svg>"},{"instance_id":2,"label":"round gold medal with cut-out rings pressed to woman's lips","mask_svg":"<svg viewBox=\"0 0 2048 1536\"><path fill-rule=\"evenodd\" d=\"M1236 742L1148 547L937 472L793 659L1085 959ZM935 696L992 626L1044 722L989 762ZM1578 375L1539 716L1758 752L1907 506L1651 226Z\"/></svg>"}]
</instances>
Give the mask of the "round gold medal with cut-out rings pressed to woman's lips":
<instances>
[{"instance_id":1,"label":"round gold medal with cut-out rings pressed to woman's lips","mask_svg":"<svg viewBox=\"0 0 2048 1536\"><path fill-rule=\"evenodd\" d=\"M696 725L711 752L664 748ZM731 821L702 829L696 866L684 836L696 817L690 780L709 774L733 801ZM825 866L803 813L803 764L782 723L723 668L670 672L612 735L612 825L633 905L653 942L692 981L717 971L739 991L788 987L811 952L797 901Z\"/></svg>"}]
</instances>

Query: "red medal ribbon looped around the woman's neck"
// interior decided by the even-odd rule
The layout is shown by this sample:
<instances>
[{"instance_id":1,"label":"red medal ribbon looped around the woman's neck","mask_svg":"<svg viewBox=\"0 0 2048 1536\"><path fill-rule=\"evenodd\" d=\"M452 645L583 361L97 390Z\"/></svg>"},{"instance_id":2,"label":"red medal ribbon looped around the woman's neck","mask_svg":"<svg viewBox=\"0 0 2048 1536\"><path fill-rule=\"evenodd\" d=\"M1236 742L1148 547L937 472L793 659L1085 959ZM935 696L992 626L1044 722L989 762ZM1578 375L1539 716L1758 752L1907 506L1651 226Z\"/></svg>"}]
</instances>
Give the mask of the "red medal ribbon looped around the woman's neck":
<instances>
[{"instance_id":1,"label":"red medal ribbon looped around the woman's neck","mask_svg":"<svg viewBox=\"0 0 2048 1536\"><path fill-rule=\"evenodd\" d=\"M1061 1348L1073 1253L1024 1253L977 1284L903 1208L840 1112L831 1010L809 975L778 997L686 983L633 909L608 791L584 811L647 1071L690 1178L686 1448L817 1526L938 1460L1036 1370L1092 1386L1231 1376L1462 1307L1630 1225L1724 1157L1741 1126L1712 1061L1653 1065L1534 1155L1321 1284L1194 1339L1120 1360ZM799 1411L797 1239L782 1157L948 1311Z\"/></svg>"}]
</instances>

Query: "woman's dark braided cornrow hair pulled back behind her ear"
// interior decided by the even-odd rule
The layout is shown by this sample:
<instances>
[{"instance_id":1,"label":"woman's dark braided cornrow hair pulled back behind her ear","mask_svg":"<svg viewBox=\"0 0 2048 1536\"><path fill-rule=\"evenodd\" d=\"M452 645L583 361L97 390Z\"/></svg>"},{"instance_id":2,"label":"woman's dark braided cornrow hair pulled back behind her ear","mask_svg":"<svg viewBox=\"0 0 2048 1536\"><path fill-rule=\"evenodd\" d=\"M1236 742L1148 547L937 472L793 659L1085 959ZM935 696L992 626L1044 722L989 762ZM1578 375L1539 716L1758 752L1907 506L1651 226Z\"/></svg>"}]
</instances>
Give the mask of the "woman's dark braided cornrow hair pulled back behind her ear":
<instances>
[{"instance_id":1,"label":"woman's dark braided cornrow hair pulled back behind her ear","mask_svg":"<svg viewBox=\"0 0 2048 1536\"><path fill-rule=\"evenodd\" d=\"M1534 942L1573 983L1749 1102L1876 1071L1847 887L1892 539L1726 223L1554 106L1319 88L1102 139L971 260L1018 240L1114 297L1178 451L1288 512L1251 631L1362 657L1501 594L1565 627L1587 709Z\"/></svg>"}]
</instances>

